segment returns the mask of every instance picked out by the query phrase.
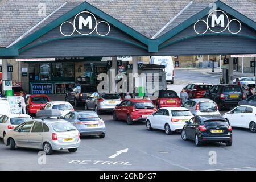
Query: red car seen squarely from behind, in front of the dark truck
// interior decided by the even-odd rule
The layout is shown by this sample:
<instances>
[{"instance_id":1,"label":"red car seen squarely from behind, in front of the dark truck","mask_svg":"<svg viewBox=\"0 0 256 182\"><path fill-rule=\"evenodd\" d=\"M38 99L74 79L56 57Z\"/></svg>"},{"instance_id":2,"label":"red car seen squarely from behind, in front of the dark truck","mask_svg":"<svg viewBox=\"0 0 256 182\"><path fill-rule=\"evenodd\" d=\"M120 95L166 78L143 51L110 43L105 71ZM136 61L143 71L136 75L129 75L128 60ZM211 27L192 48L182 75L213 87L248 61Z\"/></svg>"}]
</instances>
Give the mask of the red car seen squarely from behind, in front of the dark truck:
<instances>
[{"instance_id":1,"label":"red car seen squarely from behind, in front of the dark truck","mask_svg":"<svg viewBox=\"0 0 256 182\"><path fill-rule=\"evenodd\" d=\"M173 90L159 90L152 94L152 102L156 109L160 107L180 107L182 102L177 93Z\"/></svg>"}]
</instances>

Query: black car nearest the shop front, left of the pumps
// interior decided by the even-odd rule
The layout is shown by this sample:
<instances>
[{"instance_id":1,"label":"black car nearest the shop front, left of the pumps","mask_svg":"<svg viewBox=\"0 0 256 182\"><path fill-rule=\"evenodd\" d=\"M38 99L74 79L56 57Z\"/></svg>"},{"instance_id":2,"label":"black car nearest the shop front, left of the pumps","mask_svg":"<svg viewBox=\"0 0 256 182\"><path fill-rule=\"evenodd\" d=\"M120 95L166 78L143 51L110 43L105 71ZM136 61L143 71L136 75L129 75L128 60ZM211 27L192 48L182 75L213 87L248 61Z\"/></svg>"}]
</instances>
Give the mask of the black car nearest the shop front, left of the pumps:
<instances>
[{"instance_id":1,"label":"black car nearest the shop front, left of the pumps","mask_svg":"<svg viewBox=\"0 0 256 182\"><path fill-rule=\"evenodd\" d=\"M78 106L79 104L85 103L86 99L96 91L96 86L76 85L67 92L65 101L72 102L75 106Z\"/></svg>"}]
</instances>

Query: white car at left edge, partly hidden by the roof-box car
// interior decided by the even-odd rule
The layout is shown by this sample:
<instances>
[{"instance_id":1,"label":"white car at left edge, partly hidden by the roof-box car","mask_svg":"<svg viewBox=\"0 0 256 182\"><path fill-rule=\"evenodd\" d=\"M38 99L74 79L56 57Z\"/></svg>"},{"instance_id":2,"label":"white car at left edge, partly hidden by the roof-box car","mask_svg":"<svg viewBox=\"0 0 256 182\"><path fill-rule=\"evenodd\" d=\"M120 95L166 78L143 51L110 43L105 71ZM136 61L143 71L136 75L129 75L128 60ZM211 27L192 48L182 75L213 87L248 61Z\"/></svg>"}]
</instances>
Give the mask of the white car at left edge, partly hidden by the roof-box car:
<instances>
[{"instance_id":1,"label":"white car at left edge, partly hidden by the roof-box car","mask_svg":"<svg viewBox=\"0 0 256 182\"><path fill-rule=\"evenodd\" d=\"M0 138L5 138L5 135L16 126L30 120L30 115L27 114L9 114L0 117Z\"/></svg>"}]
</instances>

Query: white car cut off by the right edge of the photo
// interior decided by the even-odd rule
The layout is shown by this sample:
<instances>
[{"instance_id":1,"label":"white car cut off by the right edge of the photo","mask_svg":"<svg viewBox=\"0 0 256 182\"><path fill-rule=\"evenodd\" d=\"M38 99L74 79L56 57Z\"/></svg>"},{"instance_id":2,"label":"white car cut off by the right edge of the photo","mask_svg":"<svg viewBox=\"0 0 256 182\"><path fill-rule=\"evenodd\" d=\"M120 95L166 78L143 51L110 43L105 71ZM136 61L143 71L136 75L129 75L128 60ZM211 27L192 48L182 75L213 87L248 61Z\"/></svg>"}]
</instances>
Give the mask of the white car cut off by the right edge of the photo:
<instances>
[{"instance_id":1,"label":"white car cut off by the right edge of the photo","mask_svg":"<svg viewBox=\"0 0 256 182\"><path fill-rule=\"evenodd\" d=\"M251 132L256 132L256 107L241 105L225 113L223 117L232 127L243 127Z\"/></svg>"}]
</instances>

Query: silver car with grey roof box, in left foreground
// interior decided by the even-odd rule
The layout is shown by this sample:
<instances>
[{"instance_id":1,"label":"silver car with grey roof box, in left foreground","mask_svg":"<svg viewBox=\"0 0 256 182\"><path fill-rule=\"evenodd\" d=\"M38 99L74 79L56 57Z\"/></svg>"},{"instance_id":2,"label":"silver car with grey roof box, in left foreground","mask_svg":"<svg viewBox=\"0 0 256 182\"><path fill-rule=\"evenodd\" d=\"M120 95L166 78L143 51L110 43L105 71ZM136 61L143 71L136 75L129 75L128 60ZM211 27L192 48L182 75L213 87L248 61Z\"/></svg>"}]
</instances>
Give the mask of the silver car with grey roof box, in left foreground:
<instances>
[{"instance_id":1,"label":"silver car with grey roof box, in left foreground","mask_svg":"<svg viewBox=\"0 0 256 182\"><path fill-rule=\"evenodd\" d=\"M60 117L59 110L53 114L49 111L53 110L40 110L36 115L45 113L45 118L31 119L9 131L3 139L6 146L10 146L10 150L15 150L15 147L43 149L47 155L55 150L76 152L80 146L79 131L63 119L50 118Z\"/></svg>"}]
</instances>

